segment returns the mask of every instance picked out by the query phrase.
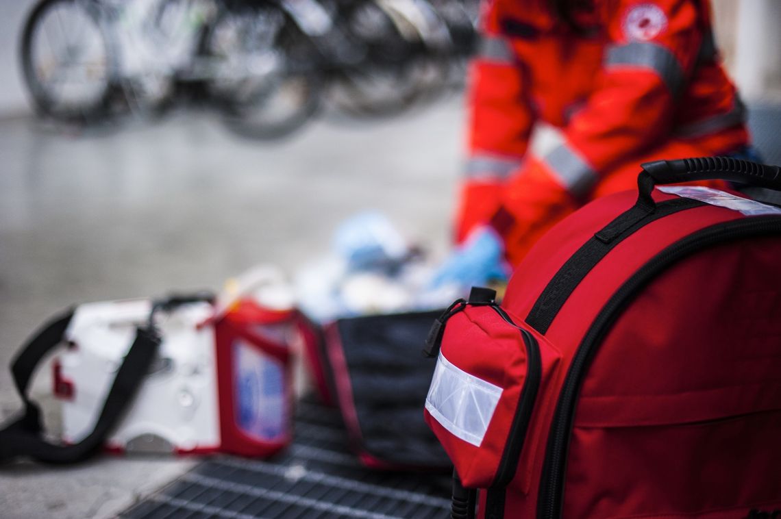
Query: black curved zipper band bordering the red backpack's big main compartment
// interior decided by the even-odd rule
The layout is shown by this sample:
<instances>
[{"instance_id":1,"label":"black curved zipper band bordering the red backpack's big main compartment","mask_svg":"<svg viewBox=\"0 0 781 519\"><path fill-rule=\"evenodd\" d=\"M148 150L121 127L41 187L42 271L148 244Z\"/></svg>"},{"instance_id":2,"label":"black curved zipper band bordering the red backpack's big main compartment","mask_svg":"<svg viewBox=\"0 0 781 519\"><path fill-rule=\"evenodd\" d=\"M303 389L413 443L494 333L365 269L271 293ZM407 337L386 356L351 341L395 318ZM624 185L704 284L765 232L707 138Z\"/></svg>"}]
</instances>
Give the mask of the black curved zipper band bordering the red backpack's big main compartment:
<instances>
[{"instance_id":1,"label":"black curved zipper band bordering the red backpack's big main compartment","mask_svg":"<svg viewBox=\"0 0 781 519\"><path fill-rule=\"evenodd\" d=\"M590 367L590 361L611 325L626 310L633 298L666 268L686 256L729 240L778 233L781 233L781 219L777 216L751 217L706 227L670 245L651 258L613 294L597 318L594 319L586 336L583 337L567 371L562 393L558 398L554 418L551 422L551 432L548 435L540 494L537 500L538 519L562 517L566 455L569 450L572 420L583 375Z\"/></svg>"}]
</instances>

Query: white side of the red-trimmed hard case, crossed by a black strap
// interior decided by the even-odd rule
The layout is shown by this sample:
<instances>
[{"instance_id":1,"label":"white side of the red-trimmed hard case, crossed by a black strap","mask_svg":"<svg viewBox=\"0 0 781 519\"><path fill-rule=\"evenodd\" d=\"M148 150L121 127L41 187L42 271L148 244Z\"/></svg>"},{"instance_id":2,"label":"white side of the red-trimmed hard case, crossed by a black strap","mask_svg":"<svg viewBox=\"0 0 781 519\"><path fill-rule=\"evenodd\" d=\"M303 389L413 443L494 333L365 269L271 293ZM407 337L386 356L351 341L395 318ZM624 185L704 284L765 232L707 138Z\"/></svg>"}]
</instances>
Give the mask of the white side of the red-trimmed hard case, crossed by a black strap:
<instances>
[{"instance_id":1,"label":"white side of the red-trimmed hard case, crossed by a black strap","mask_svg":"<svg viewBox=\"0 0 781 519\"><path fill-rule=\"evenodd\" d=\"M62 400L63 439L76 443L95 426L105 396L127 354L149 300L83 304L66 331L73 347L59 357L73 396ZM207 303L187 304L156 321L159 356L107 445L127 452L209 452L219 448L213 315Z\"/></svg>"}]
</instances>

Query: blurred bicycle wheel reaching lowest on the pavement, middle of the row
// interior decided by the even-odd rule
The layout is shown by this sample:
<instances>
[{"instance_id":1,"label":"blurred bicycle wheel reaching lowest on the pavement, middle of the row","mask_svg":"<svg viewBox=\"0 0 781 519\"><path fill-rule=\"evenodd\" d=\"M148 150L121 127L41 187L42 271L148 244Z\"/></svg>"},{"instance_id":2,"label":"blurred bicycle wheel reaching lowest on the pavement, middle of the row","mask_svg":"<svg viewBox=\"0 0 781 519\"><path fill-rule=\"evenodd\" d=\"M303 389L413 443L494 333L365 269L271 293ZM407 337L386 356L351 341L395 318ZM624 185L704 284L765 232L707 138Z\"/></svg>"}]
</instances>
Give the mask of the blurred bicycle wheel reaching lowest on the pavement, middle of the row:
<instances>
[{"instance_id":1,"label":"blurred bicycle wheel reaching lowest on the pavement, middle of the row","mask_svg":"<svg viewBox=\"0 0 781 519\"><path fill-rule=\"evenodd\" d=\"M274 5L228 9L210 31L218 58L209 91L226 126L243 137L286 137L314 116L322 75L308 38Z\"/></svg>"}]
</instances>

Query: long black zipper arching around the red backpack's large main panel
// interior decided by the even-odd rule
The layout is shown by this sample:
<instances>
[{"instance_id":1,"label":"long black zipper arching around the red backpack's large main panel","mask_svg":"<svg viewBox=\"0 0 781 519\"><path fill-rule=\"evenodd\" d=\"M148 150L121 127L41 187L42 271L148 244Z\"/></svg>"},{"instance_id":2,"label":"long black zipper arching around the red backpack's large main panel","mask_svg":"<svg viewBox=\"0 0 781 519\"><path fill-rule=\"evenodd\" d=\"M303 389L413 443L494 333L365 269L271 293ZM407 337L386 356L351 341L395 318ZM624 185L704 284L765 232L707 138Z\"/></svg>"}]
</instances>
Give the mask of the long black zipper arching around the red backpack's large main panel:
<instances>
[{"instance_id":1,"label":"long black zipper arching around the red backpack's large main panel","mask_svg":"<svg viewBox=\"0 0 781 519\"><path fill-rule=\"evenodd\" d=\"M597 320L587 332L583 342L578 347L575 358L572 360L572 365L569 368L567 378L565 379L565 386L562 389L562 396L559 397L558 405L556 407L555 416L553 418L552 428L555 428L551 432L551 444L549 449L551 450L551 460L545 461L545 467L550 467L545 485L540 488L540 497L544 497L544 501L541 502L543 508L541 514L538 516L545 519L553 519L561 516L563 505L563 467L562 456L566 447L565 440L569 438L571 431L572 420L572 404L573 396L576 390L580 387L580 375L583 371L583 364L586 363L590 352L593 350L594 345L598 339L604 333L606 325L612 322L616 313L633 293L637 291L640 286L650 282L660 272L658 270L668 266L669 262L683 258L690 253L697 252L701 247L717 244L720 240L726 241L739 235L741 232L745 232L756 228L758 231L773 231L781 230L781 219L777 217L771 217L772 219L748 219L739 220L737 222L731 221L726 224L715 224L715 226L707 227L699 231L698 235L694 237L684 238L677 244L673 244L668 247L662 254L658 254L651 259L647 264L642 266L629 281L626 282L622 288L616 292L613 297L608 301L608 304L599 312ZM644 272L644 275L638 277L639 272ZM545 468L543 469L545 470Z\"/></svg>"}]
</instances>

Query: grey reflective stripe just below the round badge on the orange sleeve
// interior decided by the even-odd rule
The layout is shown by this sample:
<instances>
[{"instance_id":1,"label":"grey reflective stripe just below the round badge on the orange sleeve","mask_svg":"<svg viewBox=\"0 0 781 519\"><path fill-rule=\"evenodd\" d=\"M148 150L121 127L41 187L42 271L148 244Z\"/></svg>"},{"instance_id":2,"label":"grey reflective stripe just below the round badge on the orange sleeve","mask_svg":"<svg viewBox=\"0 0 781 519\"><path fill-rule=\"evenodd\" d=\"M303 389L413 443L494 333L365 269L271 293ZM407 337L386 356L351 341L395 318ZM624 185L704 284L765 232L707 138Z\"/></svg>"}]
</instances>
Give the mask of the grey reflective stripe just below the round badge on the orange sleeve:
<instances>
[{"instance_id":1,"label":"grey reflective stripe just below the round badge on the orange sleeve","mask_svg":"<svg viewBox=\"0 0 781 519\"><path fill-rule=\"evenodd\" d=\"M673 97L683 91L683 69L672 52L660 44L633 41L608 48L605 66L640 66L653 70L662 78Z\"/></svg>"}]
</instances>

